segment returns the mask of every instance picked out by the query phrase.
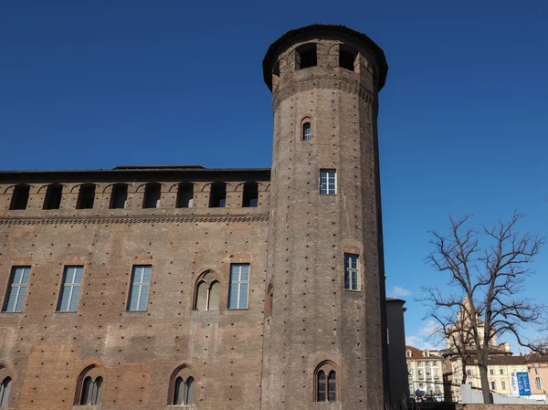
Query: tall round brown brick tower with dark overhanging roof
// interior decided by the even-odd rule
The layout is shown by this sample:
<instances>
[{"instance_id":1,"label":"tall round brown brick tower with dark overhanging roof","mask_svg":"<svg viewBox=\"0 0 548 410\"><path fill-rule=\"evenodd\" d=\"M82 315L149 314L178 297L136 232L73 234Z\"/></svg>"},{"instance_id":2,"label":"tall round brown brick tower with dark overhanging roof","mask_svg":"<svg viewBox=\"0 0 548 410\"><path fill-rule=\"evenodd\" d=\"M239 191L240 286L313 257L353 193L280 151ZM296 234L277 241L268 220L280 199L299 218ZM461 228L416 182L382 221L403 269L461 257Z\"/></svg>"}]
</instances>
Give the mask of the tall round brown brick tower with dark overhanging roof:
<instances>
[{"instance_id":1,"label":"tall round brown brick tower with dark overhanging roof","mask_svg":"<svg viewBox=\"0 0 548 410\"><path fill-rule=\"evenodd\" d=\"M291 30L264 58L274 147L262 410L383 408L376 117L387 69L383 50L345 26Z\"/></svg>"}]
</instances>

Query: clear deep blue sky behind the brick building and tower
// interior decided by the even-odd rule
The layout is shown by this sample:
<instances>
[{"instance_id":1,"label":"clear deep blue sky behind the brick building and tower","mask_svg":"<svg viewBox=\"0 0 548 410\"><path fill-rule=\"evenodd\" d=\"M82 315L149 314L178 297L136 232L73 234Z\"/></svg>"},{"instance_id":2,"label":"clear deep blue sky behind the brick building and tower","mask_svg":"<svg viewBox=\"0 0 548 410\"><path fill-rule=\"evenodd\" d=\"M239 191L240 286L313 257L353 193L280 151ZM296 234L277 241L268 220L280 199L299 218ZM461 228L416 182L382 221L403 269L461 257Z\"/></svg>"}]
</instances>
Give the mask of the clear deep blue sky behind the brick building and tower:
<instances>
[{"instance_id":1,"label":"clear deep blue sky behind the brick building and tower","mask_svg":"<svg viewBox=\"0 0 548 410\"><path fill-rule=\"evenodd\" d=\"M448 214L518 208L548 234L548 2L0 2L2 169L268 167L261 61L285 31L350 26L384 48L379 137L389 295L420 345L424 258ZM528 292L548 302L548 245ZM400 292L401 293L401 292ZM404 291L405 293L405 291ZM514 347L514 350L517 349Z\"/></svg>"}]
</instances>

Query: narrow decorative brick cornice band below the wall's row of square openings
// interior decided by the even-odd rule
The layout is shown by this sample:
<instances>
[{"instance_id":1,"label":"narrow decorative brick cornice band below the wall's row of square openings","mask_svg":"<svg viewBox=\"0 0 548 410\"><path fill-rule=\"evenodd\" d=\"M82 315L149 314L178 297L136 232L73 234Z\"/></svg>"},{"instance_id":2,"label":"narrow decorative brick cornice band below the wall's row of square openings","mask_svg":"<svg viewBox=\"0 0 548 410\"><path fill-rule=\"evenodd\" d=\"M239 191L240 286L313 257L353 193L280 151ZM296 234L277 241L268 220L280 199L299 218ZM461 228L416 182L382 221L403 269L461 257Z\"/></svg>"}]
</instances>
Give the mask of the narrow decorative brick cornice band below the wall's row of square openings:
<instances>
[{"instance_id":1,"label":"narrow decorative brick cornice band below the wall's row of square openings","mask_svg":"<svg viewBox=\"0 0 548 410\"><path fill-rule=\"evenodd\" d=\"M177 223L268 222L268 214L257 215L162 215L162 216L44 216L0 217L0 225L119 225Z\"/></svg>"}]
</instances>

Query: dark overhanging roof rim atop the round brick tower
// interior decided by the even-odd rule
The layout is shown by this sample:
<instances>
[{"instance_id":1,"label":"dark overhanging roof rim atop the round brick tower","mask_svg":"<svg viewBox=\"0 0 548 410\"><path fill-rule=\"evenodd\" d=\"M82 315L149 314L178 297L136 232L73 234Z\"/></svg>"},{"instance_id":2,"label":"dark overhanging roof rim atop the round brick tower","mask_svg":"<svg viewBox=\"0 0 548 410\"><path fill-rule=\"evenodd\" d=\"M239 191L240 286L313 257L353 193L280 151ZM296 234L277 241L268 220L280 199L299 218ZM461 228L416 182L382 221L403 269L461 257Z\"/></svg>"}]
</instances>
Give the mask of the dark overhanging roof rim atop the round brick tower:
<instances>
[{"instance_id":1,"label":"dark overhanging roof rim atop the round brick tower","mask_svg":"<svg viewBox=\"0 0 548 410\"><path fill-rule=\"evenodd\" d=\"M288 31L283 36L279 37L274 43L272 43L263 58L263 78L269 89L272 89L272 67L275 62L274 59L277 57L280 47L287 46L291 43L291 38L303 34L313 33L313 32L339 32L345 36L354 37L364 43L366 47L371 49L376 58L377 64L379 65L379 90L385 87L386 74L388 72L388 64L386 63L385 52L381 47L378 47L376 43L369 37L365 36L364 33L348 28L347 26L341 25L324 25L324 24L315 24L310 26L303 26L300 28L294 28L293 30Z\"/></svg>"}]
</instances>

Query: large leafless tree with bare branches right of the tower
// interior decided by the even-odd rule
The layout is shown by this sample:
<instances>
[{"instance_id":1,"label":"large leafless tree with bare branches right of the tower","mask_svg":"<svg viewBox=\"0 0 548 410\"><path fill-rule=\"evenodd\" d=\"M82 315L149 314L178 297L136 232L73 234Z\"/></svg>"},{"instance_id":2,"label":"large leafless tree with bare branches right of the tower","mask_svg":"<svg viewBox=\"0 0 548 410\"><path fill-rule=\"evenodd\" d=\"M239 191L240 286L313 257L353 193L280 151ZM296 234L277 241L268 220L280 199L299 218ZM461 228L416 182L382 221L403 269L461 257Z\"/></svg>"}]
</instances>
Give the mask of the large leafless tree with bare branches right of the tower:
<instances>
[{"instance_id":1,"label":"large leafless tree with bare branches right of the tower","mask_svg":"<svg viewBox=\"0 0 548 410\"><path fill-rule=\"evenodd\" d=\"M428 316L440 324L449 340L454 338L454 344L461 346L463 366L470 352L478 360L485 404L492 404L487 374L495 337L510 333L534 352L546 348L540 339L523 336L526 329L542 332L548 328L543 318L546 307L520 295L532 274L532 258L545 241L531 233L517 233L515 225L521 218L516 212L509 222L482 226L478 232L466 226L469 216L449 217L449 234L432 232L430 241L434 251L427 261L437 271L447 272L448 284L457 291L445 295L436 287L423 288L426 296L421 300L429 307Z\"/></svg>"}]
</instances>

